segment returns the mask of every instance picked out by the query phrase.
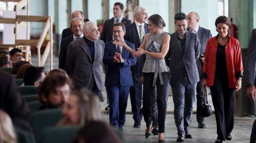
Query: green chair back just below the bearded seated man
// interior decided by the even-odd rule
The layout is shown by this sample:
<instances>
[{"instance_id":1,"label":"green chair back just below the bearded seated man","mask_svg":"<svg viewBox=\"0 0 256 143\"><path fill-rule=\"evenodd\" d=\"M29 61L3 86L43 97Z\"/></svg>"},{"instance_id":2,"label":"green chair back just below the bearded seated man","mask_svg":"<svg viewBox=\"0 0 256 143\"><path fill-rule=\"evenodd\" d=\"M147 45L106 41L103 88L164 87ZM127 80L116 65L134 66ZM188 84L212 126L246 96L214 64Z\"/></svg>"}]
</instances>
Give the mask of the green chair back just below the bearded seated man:
<instances>
[{"instance_id":1,"label":"green chair back just below the bearded seated man","mask_svg":"<svg viewBox=\"0 0 256 143\"><path fill-rule=\"evenodd\" d=\"M30 125L35 133L36 139L43 129L55 126L62 117L60 108L42 110L31 114Z\"/></svg>"}]
</instances>

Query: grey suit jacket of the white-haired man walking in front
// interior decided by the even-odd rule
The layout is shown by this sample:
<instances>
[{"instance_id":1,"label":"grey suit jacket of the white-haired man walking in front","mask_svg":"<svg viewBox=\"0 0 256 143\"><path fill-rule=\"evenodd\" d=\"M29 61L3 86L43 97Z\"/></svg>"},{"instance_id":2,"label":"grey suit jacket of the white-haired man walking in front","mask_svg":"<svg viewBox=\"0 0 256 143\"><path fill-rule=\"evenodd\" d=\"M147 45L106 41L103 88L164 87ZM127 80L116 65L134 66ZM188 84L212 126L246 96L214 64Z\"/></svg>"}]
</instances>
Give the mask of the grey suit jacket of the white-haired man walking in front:
<instances>
[{"instance_id":1,"label":"grey suit jacket of the white-haired man walking in front","mask_svg":"<svg viewBox=\"0 0 256 143\"><path fill-rule=\"evenodd\" d=\"M73 79L76 88L86 87L92 90L94 81L100 91L103 90L102 58L104 42L94 41L94 62L84 38L73 41L68 46L65 70Z\"/></svg>"}]
</instances>

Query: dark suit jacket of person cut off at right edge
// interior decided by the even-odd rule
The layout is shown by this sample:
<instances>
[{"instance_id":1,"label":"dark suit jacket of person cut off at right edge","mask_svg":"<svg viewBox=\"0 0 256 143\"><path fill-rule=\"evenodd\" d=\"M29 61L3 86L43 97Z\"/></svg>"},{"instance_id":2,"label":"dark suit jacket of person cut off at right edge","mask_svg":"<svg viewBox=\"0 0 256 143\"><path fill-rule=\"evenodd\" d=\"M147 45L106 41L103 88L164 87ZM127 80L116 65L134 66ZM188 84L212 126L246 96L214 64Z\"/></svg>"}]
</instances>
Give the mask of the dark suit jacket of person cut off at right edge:
<instances>
[{"instance_id":1,"label":"dark suit jacket of person cut off at right edge","mask_svg":"<svg viewBox=\"0 0 256 143\"><path fill-rule=\"evenodd\" d=\"M252 30L250 43L248 45L247 57L246 57L246 85L256 86L256 29Z\"/></svg>"}]
</instances>

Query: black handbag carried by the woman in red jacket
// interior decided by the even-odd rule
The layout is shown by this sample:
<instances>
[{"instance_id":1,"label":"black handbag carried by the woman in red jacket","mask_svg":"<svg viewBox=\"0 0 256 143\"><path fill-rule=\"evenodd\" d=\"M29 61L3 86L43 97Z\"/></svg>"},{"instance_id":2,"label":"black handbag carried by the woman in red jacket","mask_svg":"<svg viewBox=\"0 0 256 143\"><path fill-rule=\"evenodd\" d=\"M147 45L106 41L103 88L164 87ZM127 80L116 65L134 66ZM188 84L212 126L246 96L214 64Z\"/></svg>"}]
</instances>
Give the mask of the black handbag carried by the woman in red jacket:
<instances>
[{"instance_id":1,"label":"black handbag carried by the woman in red jacket","mask_svg":"<svg viewBox=\"0 0 256 143\"><path fill-rule=\"evenodd\" d=\"M209 105L208 99L207 99L207 88L204 89L204 100L203 100L203 104L201 106L200 112L201 112L201 116L203 117L209 117L212 115L212 107L211 105Z\"/></svg>"}]
</instances>

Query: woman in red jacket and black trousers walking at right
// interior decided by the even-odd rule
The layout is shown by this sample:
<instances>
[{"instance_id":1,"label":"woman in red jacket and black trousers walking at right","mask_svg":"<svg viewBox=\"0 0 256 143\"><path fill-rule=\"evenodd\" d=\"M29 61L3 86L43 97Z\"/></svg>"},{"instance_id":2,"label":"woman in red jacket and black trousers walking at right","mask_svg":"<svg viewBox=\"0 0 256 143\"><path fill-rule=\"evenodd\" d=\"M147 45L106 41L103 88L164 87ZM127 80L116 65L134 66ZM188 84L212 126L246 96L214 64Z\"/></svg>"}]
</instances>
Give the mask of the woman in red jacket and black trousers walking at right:
<instances>
[{"instance_id":1,"label":"woman in red jacket and black trousers walking at right","mask_svg":"<svg viewBox=\"0 0 256 143\"><path fill-rule=\"evenodd\" d=\"M243 63L239 41L228 35L226 16L215 21L218 35L207 41L203 65L203 86L210 87L217 122L217 140L231 140L234 127L234 96L241 89Z\"/></svg>"}]
</instances>

